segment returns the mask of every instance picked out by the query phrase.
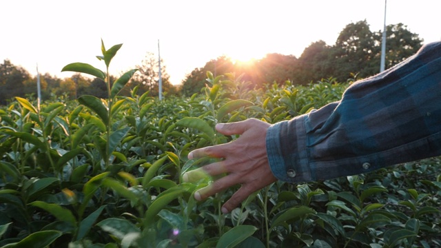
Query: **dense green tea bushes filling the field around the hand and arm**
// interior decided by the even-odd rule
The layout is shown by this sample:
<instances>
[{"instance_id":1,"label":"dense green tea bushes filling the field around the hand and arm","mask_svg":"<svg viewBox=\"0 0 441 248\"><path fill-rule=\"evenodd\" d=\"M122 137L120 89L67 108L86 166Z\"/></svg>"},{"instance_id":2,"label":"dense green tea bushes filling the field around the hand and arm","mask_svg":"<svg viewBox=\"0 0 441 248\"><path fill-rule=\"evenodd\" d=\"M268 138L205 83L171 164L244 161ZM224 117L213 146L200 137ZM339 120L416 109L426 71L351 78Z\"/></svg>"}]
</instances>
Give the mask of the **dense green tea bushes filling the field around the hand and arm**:
<instances>
[{"instance_id":1,"label":"dense green tea bushes filling the field around the hand and arm","mask_svg":"<svg viewBox=\"0 0 441 248\"><path fill-rule=\"evenodd\" d=\"M108 69L121 45L102 43ZM214 77L192 97L118 96L136 70L114 83L84 63L63 70L103 79L108 98L17 97L0 109L0 247L440 247L440 158L300 185L276 182L231 214L234 188L196 202L211 183L182 176L207 159L197 147L232 141L219 122L268 123L338 101L351 83L269 84Z\"/></svg>"}]
</instances>

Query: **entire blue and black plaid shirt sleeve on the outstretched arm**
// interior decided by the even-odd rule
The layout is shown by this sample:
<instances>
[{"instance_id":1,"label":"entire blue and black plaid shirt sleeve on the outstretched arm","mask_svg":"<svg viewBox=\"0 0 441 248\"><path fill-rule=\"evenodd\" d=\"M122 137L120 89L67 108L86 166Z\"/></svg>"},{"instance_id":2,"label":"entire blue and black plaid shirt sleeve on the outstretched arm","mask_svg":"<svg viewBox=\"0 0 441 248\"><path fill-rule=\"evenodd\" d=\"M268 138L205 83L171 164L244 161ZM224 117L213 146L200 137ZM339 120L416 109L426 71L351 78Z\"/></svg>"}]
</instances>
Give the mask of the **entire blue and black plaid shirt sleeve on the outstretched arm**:
<instances>
[{"instance_id":1,"label":"entire blue and black plaid shirt sleeve on the outstretched arm","mask_svg":"<svg viewBox=\"0 0 441 248\"><path fill-rule=\"evenodd\" d=\"M325 180L441 155L441 42L347 88L342 100L269 127L274 176Z\"/></svg>"}]
</instances>

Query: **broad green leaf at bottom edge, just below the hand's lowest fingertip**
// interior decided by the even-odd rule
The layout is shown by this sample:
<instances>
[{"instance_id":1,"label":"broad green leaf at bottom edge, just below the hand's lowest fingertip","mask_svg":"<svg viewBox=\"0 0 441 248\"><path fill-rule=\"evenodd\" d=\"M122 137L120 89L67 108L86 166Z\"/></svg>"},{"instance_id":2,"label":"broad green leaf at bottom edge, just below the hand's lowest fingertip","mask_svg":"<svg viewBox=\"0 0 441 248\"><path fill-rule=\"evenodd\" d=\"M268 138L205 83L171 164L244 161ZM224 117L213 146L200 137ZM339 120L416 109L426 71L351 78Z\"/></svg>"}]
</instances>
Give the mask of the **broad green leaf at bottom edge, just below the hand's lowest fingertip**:
<instances>
[{"instance_id":1,"label":"broad green leaf at bottom edge, just below the hand's lowest fingertip","mask_svg":"<svg viewBox=\"0 0 441 248\"><path fill-rule=\"evenodd\" d=\"M220 236L216 248L229 248L243 242L248 237L252 236L257 230L257 227L252 225L238 225L229 229L223 236Z\"/></svg>"}]
</instances>

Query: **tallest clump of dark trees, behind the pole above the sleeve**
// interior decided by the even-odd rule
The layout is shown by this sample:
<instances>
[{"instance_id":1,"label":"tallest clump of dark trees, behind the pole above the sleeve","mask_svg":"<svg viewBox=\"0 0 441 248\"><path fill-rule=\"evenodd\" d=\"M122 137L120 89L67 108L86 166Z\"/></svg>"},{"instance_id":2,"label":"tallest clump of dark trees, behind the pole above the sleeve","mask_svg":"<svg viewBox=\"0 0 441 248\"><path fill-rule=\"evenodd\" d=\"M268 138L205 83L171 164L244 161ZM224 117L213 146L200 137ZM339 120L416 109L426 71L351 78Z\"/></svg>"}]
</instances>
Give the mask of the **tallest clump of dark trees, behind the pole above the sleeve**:
<instances>
[{"instance_id":1,"label":"tallest clump of dark trees, behind the pole above the sleeve","mask_svg":"<svg viewBox=\"0 0 441 248\"><path fill-rule=\"evenodd\" d=\"M354 74L360 78L380 72L382 32L371 32L367 21L350 23L340 32L336 43L329 46L316 41L305 48L298 59L294 81L305 83L334 77L346 81ZM387 26L386 68L407 59L421 47L418 34L402 23Z\"/></svg>"}]
</instances>

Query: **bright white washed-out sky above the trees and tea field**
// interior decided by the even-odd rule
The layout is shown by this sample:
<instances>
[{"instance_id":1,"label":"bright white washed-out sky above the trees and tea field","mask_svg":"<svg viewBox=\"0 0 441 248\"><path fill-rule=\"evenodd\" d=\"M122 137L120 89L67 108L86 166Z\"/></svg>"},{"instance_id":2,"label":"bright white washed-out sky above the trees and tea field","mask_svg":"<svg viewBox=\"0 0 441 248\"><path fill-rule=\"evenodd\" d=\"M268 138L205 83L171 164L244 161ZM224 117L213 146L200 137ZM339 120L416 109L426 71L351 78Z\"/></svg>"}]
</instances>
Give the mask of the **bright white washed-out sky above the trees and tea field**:
<instances>
[{"instance_id":1,"label":"bright white washed-out sky above the trees and tea field","mask_svg":"<svg viewBox=\"0 0 441 248\"><path fill-rule=\"evenodd\" d=\"M439 3L387 1L387 24L404 23L424 43L440 41ZM0 1L0 63L10 59L31 74L60 72L72 62L101 70L106 48L123 43L110 64L119 75L158 53L177 84L211 59L260 59L268 53L300 56L312 42L333 45L351 22L367 20L382 30L384 0L187 0L187 1Z\"/></svg>"}]
</instances>

